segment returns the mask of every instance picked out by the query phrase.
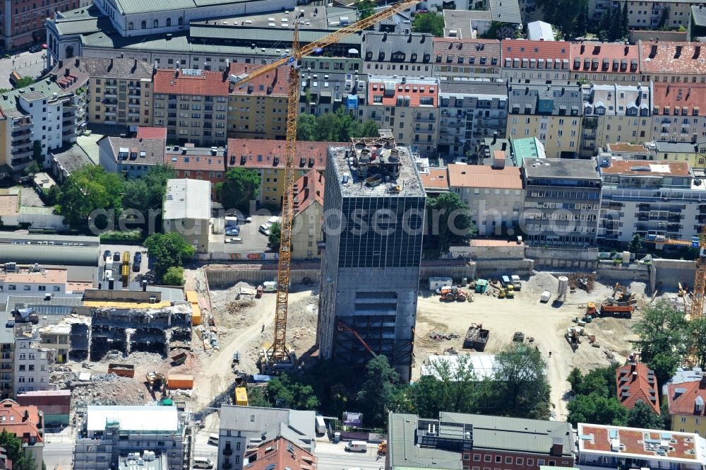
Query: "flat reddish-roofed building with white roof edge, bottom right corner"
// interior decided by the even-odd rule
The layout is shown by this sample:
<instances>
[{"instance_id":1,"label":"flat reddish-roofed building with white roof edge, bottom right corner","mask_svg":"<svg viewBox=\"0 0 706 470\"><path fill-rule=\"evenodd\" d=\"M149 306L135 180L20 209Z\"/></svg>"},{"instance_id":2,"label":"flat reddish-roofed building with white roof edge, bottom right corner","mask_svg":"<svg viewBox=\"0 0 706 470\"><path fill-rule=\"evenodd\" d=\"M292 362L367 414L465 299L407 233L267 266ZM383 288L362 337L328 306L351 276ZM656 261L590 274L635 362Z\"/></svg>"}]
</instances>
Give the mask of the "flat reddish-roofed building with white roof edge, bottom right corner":
<instances>
[{"instance_id":1,"label":"flat reddish-roofed building with white roof edge, bottom right corner","mask_svg":"<svg viewBox=\"0 0 706 470\"><path fill-rule=\"evenodd\" d=\"M620 467L698 470L704 439L693 433L578 423L576 464L581 470Z\"/></svg>"}]
</instances>

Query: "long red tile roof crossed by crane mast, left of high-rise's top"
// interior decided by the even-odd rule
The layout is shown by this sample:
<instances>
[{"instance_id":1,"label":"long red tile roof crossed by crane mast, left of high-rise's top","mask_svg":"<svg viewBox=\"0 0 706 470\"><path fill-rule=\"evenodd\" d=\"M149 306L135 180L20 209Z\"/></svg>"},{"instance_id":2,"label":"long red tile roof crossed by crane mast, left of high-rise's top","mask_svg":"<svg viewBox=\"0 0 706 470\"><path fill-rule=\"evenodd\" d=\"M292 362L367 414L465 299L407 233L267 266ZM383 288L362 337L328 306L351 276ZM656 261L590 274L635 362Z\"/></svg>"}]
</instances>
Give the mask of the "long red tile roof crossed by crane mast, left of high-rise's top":
<instances>
[{"instance_id":1,"label":"long red tile roof crossed by crane mast, left of high-rise's top","mask_svg":"<svg viewBox=\"0 0 706 470\"><path fill-rule=\"evenodd\" d=\"M297 142L296 170L326 169L328 146L339 142ZM313 161L312 161L313 159ZM269 139L228 139L228 168L285 168L285 141Z\"/></svg>"}]
</instances>

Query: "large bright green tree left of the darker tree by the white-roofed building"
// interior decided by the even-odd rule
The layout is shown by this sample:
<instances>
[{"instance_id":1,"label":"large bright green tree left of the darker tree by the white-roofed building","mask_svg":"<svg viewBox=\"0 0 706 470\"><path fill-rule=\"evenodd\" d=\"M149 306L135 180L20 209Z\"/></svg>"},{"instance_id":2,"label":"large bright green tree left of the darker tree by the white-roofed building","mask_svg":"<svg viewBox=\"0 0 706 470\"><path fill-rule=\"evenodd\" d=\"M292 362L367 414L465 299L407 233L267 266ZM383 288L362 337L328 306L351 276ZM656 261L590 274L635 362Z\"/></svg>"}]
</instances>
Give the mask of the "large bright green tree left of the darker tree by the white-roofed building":
<instances>
[{"instance_id":1,"label":"large bright green tree left of the darker tree by the white-roofed building","mask_svg":"<svg viewBox=\"0 0 706 470\"><path fill-rule=\"evenodd\" d=\"M56 208L64 216L64 223L86 232L93 211L112 209L116 216L120 215L124 183L120 175L108 173L100 166L83 167L66 178Z\"/></svg>"}]
</instances>

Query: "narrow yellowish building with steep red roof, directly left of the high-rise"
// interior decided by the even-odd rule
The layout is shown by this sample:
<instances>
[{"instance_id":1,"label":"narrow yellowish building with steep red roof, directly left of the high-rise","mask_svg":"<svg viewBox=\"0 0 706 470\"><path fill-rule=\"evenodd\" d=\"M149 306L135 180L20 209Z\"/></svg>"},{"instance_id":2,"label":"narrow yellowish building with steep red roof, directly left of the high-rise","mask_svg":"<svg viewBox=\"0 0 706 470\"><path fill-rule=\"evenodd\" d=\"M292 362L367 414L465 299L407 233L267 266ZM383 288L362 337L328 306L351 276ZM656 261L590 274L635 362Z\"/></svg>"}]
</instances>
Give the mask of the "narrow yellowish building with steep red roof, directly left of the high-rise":
<instances>
[{"instance_id":1,"label":"narrow yellowish building with steep red roof, directly left of the high-rise","mask_svg":"<svg viewBox=\"0 0 706 470\"><path fill-rule=\"evenodd\" d=\"M323 240L323 174L311 168L294 182L292 259L318 259L318 242Z\"/></svg>"}]
</instances>

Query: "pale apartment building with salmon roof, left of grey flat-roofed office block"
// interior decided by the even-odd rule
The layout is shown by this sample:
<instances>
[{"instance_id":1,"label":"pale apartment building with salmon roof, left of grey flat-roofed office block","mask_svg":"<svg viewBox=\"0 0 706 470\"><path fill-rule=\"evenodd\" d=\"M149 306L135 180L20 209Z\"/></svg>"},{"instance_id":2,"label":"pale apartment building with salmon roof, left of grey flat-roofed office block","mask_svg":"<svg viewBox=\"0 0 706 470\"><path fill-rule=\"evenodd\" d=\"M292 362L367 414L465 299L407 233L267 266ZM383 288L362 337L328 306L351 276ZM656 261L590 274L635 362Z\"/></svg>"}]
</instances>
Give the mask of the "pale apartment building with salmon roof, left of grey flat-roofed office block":
<instances>
[{"instance_id":1,"label":"pale apartment building with salmon roof, left of grey flat-roofed office block","mask_svg":"<svg viewBox=\"0 0 706 470\"><path fill-rule=\"evenodd\" d=\"M519 223L525 190L520 168L493 153L493 165L448 165L448 186L467 204L479 235L502 236Z\"/></svg>"}]
</instances>

